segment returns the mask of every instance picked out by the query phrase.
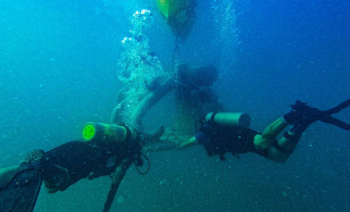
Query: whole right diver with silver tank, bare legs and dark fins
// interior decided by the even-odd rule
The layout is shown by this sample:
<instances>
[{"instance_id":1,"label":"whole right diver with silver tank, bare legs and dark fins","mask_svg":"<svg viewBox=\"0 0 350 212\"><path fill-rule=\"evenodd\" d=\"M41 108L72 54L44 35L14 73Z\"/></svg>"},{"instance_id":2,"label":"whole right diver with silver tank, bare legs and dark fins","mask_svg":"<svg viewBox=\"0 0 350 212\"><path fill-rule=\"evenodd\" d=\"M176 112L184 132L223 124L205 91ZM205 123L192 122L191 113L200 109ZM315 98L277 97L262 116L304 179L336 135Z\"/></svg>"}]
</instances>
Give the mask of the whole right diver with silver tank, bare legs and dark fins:
<instances>
[{"instance_id":1,"label":"whole right diver with silver tank, bare legs and dark fins","mask_svg":"<svg viewBox=\"0 0 350 212\"><path fill-rule=\"evenodd\" d=\"M248 128L250 117L246 113L208 113L197 134L180 143L178 148L198 143L205 147L208 156L219 155L220 160L225 160L226 152L237 157L237 153L255 152L275 162L284 163L293 153L302 133L313 122L322 121L350 130L350 124L331 117L349 105L350 99L321 111L298 100L290 105L292 110L289 113L266 127L262 134ZM286 131L280 140L276 140L276 136L288 125L293 125L292 129Z\"/></svg>"}]
</instances>

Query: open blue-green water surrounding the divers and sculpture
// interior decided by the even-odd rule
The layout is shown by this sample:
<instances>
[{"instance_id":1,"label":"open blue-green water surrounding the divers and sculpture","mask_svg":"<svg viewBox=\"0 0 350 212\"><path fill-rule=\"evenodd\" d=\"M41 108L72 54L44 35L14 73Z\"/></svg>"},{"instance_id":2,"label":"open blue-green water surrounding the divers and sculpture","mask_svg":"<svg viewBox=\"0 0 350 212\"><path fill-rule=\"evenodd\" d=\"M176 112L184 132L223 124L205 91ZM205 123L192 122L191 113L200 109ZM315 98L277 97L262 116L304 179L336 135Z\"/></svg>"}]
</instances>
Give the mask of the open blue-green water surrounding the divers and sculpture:
<instances>
[{"instance_id":1,"label":"open blue-green water surrounding the divers and sculpture","mask_svg":"<svg viewBox=\"0 0 350 212\"><path fill-rule=\"evenodd\" d=\"M201 1L180 62L212 64L228 111L247 112L262 132L296 99L328 109L350 97L350 2ZM117 68L130 16L153 12L149 46L173 68L174 35L154 0L0 2L0 168L33 149L80 137L85 122L110 121L123 86ZM153 111L146 131L171 127L174 99ZM150 117L151 114L147 114ZM350 122L350 109L335 117ZM209 158L203 147L149 154L131 168L118 211L350 211L349 132L316 122L285 164L252 153ZM109 177L64 192L43 188L35 211L101 211Z\"/></svg>"}]
</instances>

